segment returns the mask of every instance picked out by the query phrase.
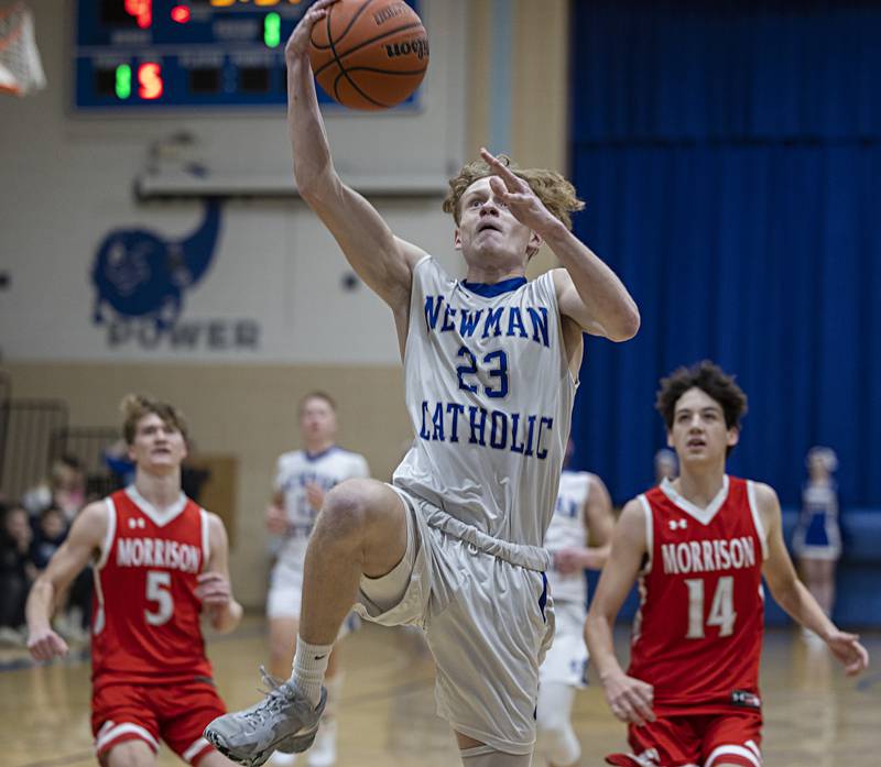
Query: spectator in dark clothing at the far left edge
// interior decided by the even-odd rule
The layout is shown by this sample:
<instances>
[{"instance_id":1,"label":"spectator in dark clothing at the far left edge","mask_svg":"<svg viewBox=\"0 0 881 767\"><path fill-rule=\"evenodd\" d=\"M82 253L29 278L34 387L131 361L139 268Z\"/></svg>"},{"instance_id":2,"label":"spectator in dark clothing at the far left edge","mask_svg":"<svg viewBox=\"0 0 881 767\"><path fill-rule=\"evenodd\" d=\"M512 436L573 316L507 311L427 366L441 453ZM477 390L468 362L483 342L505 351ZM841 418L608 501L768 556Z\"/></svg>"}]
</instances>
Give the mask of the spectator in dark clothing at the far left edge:
<instances>
[{"instance_id":1,"label":"spectator in dark clothing at the far left edge","mask_svg":"<svg viewBox=\"0 0 881 767\"><path fill-rule=\"evenodd\" d=\"M31 561L33 532L28 512L13 505L2 508L0 529L0 640L23 644L24 602L36 568Z\"/></svg>"}]
</instances>

